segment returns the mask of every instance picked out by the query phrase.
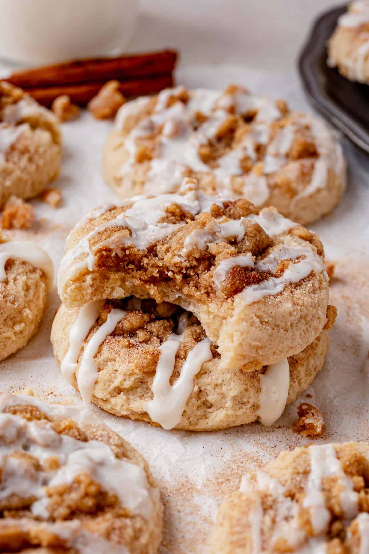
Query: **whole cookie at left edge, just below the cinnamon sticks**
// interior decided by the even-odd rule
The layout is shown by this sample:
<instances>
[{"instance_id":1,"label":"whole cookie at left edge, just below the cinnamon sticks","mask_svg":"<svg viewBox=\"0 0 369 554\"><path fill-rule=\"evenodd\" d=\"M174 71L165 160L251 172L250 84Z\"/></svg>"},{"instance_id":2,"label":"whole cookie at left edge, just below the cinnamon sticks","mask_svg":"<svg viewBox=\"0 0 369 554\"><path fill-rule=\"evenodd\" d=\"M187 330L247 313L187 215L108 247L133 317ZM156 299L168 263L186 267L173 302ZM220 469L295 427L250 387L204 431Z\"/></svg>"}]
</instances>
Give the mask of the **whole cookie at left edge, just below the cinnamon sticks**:
<instances>
[{"instance_id":1,"label":"whole cookie at left edge, just below the cinnamon sticks","mask_svg":"<svg viewBox=\"0 0 369 554\"><path fill-rule=\"evenodd\" d=\"M33 198L58 176L59 122L22 89L0 82L0 207Z\"/></svg>"}]
</instances>

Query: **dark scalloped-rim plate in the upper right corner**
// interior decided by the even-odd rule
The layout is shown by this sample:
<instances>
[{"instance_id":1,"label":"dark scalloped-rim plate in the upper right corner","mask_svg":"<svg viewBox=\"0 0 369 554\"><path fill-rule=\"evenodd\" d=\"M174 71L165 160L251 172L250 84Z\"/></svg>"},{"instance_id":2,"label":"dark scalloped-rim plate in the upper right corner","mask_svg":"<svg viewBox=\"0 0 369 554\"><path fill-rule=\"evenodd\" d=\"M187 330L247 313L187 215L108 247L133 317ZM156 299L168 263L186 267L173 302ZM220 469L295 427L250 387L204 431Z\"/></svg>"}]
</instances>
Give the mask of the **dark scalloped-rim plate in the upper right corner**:
<instances>
[{"instance_id":1,"label":"dark scalloped-rim plate in the upper right corner","mask_svg":"<svg viewBox=\"0 0 369 554\"><path fill-rule=\"evenodd\" d=\"M308 100L352 142L369 153L369 86L352 83L327 63L326 43L346 6L316 20L298 60Z\"/></svg>"}]
</instances>

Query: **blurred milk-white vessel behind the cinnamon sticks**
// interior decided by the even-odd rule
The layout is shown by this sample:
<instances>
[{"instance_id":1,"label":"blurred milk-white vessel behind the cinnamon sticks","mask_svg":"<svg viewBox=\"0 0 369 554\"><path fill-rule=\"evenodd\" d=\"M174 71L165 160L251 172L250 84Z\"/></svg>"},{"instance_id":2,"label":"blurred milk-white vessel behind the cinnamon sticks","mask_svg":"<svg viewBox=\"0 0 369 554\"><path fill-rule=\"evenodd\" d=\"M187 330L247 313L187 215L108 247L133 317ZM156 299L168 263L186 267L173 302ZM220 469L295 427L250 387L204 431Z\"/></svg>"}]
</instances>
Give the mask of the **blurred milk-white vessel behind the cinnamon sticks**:
<instances>
[{"instance_id":1,"label":"blurred milk-white vessel behind the cinnamon sticks","mask_svg":"<svg viewBox=\"0 0 369 554\"><path fill-rule=\"evenodd\" d=\"M43 64L118 54L139 0L0 0L0 57Z\"/></svg>"}]
</instances>

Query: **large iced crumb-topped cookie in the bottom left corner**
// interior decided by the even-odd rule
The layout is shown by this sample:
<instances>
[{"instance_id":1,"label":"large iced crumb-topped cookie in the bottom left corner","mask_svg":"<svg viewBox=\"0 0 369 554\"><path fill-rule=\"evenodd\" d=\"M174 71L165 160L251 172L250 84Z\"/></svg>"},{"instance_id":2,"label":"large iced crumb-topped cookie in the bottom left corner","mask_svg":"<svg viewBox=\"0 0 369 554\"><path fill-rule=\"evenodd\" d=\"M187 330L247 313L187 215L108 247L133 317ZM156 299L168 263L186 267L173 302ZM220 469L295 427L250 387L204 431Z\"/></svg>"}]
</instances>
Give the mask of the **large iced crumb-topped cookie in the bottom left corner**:
<instances>
[{"instance_id":1,"label":"large iced crumb-topped cookie in the bottom left corner","mask_svg":"<svg viewBox=\"0 0 369 554\"><path fill-rule=\"evenodd\" d=\"M163 509L148 465L92 412L3 394L0 449L2 552L158 551Z\"/></svg>"}]
</instances>

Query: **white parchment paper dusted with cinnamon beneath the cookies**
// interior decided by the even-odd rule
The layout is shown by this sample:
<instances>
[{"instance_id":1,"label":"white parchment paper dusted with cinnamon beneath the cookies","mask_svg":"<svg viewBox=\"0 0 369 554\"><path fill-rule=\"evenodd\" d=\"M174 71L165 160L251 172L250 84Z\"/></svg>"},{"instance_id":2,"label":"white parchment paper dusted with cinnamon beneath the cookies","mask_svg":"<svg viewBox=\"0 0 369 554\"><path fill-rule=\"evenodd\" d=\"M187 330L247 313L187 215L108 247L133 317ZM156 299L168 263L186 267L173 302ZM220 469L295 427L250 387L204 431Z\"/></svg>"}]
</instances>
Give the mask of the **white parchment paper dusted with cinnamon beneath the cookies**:
<instances>
[{"instance_id":1,"label":"white parchment paper dusted with cinnamon beneath the cookies","mask_svg":"<svg viewBox=\"0 0 369 554\"><path fill-rule=\"evenodd\" d=\"M230 82L241 83L257 93L287 99L294 109L309 110L293 72L256 73L241 66L198 65L179 69L177 82L220 89ZM116 199L100 176L102 146L111 126L111 122L93 120L87 112L63 124L63 170L55 182L63 192L63 205L53 209L33 201L38 217L34 229L10 233L13 238L39 243L56 269L74 224L88 209ZM339 310L324 369L306 391L311 397L303 394L271 428L257 423L211 433L165 431L95 408L145 456L158 480L165 505L162 554L204 552L217 506L238 486L243 471L280 450L309 442L292 432L299 402L307 400L324 413L327 431L316 442L369 440L369 158L347 141L343 143L350 167L344 201L330 216L311 225L323 239L326 258L336 262L330 289L331 303ZM80 403L79 394L61 376L51 350L50 327L58 305L54 290L38 334L0 363L2 391L32 386L40 398Z\"/></svg>"}]
</instances>

